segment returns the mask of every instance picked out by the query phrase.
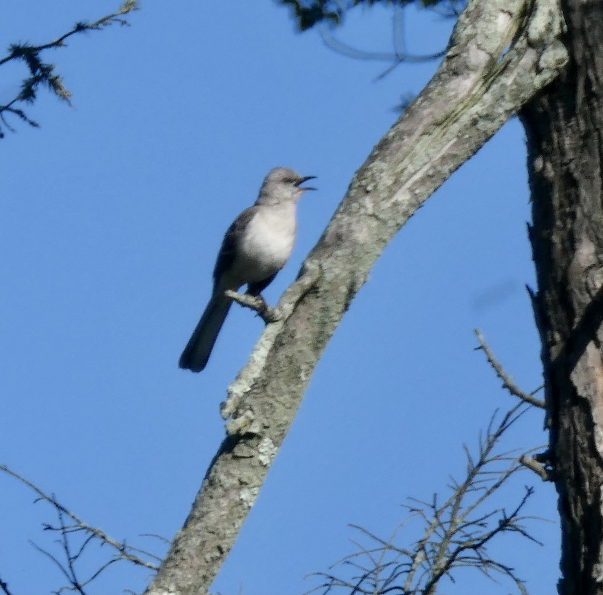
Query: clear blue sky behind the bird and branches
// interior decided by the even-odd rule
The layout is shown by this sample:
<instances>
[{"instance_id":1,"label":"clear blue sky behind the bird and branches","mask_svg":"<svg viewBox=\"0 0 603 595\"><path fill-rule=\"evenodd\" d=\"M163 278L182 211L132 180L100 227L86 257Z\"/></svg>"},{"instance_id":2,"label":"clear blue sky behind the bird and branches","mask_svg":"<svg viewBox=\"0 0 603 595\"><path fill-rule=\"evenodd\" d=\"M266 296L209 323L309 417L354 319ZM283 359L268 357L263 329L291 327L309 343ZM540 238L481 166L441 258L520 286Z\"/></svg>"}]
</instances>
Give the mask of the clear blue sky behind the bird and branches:
<instances>
[{"instance_id":1,"label":"clear blue sky behind the bird and branches","mask_svg":"<svg viewBox=\"0 0 603 595\"><path fill-rule=\"evenodd\" d=\"M4 47L46 42L118 2L5 4ZM393 106L436 65L375 82L387 65L295 33L270 0L142 8L129 28L46 54L74 109L40 93L28 113L42 127L14 122L0 141L0 462L116 539L161 552L138 536L171 539L181 526L224 435L219 403L261 331L234 307L206 370L178 370L224 231L269 169L317 175L291 260L264 294L275 303L393 124ZM450 22L429 14L407 23L417 52L446 43ZM390 49L390 16L358 10L341 36ZM2 69L0 102L22 74ZM475 446L494 409L512 402L474 350L475 327L520 386L541 384L524 289L534 285L525 159L514 119L385 250L317 367L215 593L303 593L315 585L305 575L353 551L349 523L389 535L409 496L445 493L448 475L463 472L461 445ZM529 413L505 445L543 444L542 424ZM40 530L52 511L14 480L0 483L0 577L13 593L58 588L52 563L28 543L52 547ZM536 488L529 514L555 520L552 485L528 471L496 506L511 508L525 484ZM511 536L492 552L531 593L551 593L558 523L531 527L544 547ZM147 578L114 567L89 593L142 591ZM442 589L510 590L467 571Z\"/></svg>"}]
</instances>

